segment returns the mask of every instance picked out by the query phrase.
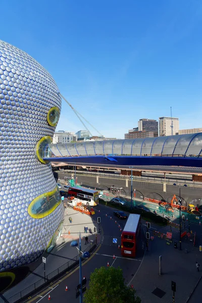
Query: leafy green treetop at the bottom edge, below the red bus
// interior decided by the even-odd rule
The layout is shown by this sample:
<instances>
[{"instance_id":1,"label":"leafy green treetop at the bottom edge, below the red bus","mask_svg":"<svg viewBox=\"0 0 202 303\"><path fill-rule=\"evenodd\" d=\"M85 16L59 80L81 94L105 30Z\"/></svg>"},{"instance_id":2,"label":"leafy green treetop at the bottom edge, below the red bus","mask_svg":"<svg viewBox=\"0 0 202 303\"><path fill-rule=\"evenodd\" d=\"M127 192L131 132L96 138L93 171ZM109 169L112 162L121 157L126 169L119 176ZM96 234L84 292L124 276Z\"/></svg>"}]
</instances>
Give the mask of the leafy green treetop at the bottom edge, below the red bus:
<instances>
[{"instance_id":1,"label":"leafy green treetop at the bottom edge, below the red bus","mask_svg":"<svg viewBox=\"0 0 202 303\"><path fill-rule=\"evenodd\" d=\"M90 275L84 294L85 303L140 303L135 290L124 283L123 271L114 267L100 267Z\"/></svg>"}]
</instances>

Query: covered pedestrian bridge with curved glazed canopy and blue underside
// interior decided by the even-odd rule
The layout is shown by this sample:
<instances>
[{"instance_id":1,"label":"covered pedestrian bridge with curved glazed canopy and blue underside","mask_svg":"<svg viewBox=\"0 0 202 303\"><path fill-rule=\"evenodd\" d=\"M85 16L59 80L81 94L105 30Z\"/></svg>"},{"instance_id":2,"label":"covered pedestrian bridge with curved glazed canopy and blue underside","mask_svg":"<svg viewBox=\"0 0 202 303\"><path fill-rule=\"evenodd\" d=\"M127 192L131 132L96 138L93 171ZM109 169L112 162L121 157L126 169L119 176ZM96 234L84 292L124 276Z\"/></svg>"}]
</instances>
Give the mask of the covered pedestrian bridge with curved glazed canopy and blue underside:
<instances>
[{"instance_id":1,"label":"covered pedestrian bridge with curved glazed canopy and blue underside","mask_svg":"<svg viewBox=\"0 0 202 303\"><path fill-rule=\"evenodd\" d=\"M202 167L202 133L141 139L45 144L48 162Z\"/></svg>"}]
</instances>

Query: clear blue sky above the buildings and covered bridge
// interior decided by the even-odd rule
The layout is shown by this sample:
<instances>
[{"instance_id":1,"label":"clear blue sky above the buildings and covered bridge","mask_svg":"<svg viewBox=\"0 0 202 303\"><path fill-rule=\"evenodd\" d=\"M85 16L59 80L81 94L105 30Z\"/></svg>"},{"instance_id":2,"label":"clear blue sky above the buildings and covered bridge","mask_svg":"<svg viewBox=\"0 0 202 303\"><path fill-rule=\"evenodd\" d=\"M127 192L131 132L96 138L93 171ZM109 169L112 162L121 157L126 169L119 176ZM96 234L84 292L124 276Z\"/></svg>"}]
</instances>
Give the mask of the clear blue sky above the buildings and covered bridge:
<instances>
[{"instance_id":1,"label":"clear blue sky above the buildings and covered bridge","mask_svg":"<svg viewBox=\"0 0 202 303\"><path fill-rule=\"evenodd\" d=\"M46 68L103 135L124 138L171 106L180 129L202 127L201 0L9 3L0 39ZM80 129L63 101L57 130Z\"/></svg>"}]
</instances>

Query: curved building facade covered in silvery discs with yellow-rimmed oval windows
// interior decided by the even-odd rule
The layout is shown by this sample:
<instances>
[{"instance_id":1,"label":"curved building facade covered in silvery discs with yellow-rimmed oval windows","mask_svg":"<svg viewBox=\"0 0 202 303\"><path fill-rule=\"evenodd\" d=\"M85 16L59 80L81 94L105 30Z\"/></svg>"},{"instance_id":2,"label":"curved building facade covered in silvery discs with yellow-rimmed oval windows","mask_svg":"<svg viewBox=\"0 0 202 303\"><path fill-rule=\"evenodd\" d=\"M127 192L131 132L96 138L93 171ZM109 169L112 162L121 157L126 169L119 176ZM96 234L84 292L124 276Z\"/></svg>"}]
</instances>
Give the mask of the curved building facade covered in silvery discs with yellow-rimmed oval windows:
<instances>
[{"instance_id":1,"label":"curved building facade covered in silvery discs with yellow-rimmed oval windows","mask_svg":"<svg viewBox=\"0 0 202 303\"><path fill-rule=\"evenodd\" d=\"M0 271L29 264L52 245L64 211L51 164L42 159L61 97L32 57L0 40Z\"/></svg>"}]
</instances>

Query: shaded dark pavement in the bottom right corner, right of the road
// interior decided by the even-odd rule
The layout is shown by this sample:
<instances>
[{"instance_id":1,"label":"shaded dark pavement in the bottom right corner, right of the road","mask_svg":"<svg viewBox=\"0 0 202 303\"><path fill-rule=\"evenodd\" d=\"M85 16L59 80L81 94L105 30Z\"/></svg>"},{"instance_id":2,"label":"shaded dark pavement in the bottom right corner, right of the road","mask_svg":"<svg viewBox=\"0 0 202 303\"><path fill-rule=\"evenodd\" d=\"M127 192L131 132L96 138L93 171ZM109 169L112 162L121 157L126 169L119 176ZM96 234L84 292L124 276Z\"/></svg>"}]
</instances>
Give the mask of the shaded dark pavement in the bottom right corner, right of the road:
<instances>
[{"instance_id":1,"label":"shaded dark pavement in the bottom right corner, right of the road","mask_svg":"<svg viewBox=\"0 0 202 303\"><path fill-rule=\"evenodd\" d=\"M166 241L155 237L149 241L149 251L145 251L143 262L134 276L131 284L142 299L142 303L172 302L173 291L171 281L176 282L176 302L186 302L194 289L201 272L197 272L195 263L202 264L202 254L198 248L193 247L185 253L186 245L182 244L182 250L174 248L174 244L166 245ZM159 256L163 258L163 274L159 275ZM162 298L153 294L156 291L164 294Z\"/></svg>"}]
</instances>

